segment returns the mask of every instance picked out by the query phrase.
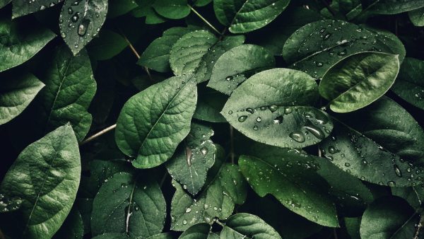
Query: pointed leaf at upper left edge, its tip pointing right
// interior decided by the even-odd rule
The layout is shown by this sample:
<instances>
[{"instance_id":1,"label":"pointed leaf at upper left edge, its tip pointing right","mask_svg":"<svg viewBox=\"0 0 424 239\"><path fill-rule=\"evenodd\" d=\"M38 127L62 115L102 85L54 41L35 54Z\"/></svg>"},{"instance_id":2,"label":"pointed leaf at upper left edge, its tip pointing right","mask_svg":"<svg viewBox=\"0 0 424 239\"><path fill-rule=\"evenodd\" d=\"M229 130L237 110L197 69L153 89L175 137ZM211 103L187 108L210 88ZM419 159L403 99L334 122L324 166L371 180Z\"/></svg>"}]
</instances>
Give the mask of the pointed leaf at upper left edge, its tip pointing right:
<instances>
[{"instance_id":1,"label":"pointed leaf at upper left edge, its tip pointing right","mask_svg":"<svg viewBox=\"0 0 424 239\"><path fill-rule=\"evenodd\" d=\"M25 1L28 3L28 1ZM0 72L34 57L56 35L30 19L0 18Z\"/></svg>"}]
</instances>

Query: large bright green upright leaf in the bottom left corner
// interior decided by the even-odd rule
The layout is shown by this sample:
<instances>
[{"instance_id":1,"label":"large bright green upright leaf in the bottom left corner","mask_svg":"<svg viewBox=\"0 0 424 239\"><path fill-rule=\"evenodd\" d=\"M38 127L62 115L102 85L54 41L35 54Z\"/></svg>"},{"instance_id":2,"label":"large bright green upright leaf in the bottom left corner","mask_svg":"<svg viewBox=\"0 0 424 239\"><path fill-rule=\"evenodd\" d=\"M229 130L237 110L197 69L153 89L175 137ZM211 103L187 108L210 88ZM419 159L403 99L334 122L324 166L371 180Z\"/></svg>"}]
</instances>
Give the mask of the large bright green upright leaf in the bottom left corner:
<instances>
[{"instance_id":1,"label":"large bright green upright leaf in the bottom left corner","mask_svg":"<svg viewBox=\"0 0 424 239\"><path fill-rule=\"evenodd\" d=\"M18 215L13 216L20 218L12 220L13 235L51 238L71 211L80 174L78 143L69 124L25 148L0 186L6 197L22 199Z\"/></svg>"}]
</instances>

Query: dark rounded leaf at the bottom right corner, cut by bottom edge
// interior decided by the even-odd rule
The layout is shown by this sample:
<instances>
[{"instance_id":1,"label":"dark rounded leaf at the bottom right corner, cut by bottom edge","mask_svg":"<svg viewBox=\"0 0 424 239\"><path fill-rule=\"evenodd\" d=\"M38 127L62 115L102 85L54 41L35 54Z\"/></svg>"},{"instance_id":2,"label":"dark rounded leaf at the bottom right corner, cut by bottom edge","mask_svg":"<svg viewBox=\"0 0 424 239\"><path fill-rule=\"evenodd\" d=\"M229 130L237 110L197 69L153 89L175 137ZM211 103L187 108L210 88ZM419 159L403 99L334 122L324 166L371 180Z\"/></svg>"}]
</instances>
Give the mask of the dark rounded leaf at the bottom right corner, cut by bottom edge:
<instances>
[{"instance_id":1,"label":"dark rounded leaf at the bottom right corner, cut by bottom edge","mask_svg":"<svg viewBox=\"0 0 424 239\"><path fill-rule=\"evenodd\" d=\"M360 237L413 238L418 215L400 197L382 197L368 206L360 222Z\"/></svg>"}]
</instances>

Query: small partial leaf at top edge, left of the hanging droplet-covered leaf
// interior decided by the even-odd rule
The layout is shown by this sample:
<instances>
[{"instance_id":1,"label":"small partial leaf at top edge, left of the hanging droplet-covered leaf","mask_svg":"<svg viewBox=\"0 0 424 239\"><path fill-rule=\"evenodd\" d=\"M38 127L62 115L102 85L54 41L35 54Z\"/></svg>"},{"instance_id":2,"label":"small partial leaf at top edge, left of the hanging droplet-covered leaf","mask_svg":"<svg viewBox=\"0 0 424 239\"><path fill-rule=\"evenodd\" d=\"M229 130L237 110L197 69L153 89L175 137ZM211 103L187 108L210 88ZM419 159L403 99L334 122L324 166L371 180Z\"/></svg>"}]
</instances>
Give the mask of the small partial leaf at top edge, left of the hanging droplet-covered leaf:
<instances>
[{"instance_id":1,"label":"small partial leaf at top edge, left of the hanging droplet-covered leaf","mask_svg":"<svg viewBox=\"0 0 424 239\"><path fill-rule=\"evenodd\" d=\"M13 0L13 11L12 18L18 18L20 16L25 16L30 13L35 13L36 11L42 11L45 8L49 8L59 4L64 0L37 0L37 1L21 1Z\"/></svg>"}]
</instances>

